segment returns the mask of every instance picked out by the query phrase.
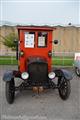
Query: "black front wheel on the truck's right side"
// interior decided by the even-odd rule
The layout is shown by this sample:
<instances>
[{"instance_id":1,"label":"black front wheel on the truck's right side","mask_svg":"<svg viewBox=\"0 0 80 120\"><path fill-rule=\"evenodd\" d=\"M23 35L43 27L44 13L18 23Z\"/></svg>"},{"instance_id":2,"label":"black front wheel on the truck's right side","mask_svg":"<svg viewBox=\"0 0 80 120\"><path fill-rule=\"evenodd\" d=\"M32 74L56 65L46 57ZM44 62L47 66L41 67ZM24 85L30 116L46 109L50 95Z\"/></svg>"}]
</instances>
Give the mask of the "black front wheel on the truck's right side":
<instances>
[{"instance_id":1,"label":"black front wheel on the truck's right side","mask_svg":"<svg viewBox=\"0 0 80 120\"><path fill-rule=\"evenodd\" d=\"M61 99L67 100L71 92L70 80L66 80L64 77L59 79L59 95Z\"/></svg>"}]
</instances>

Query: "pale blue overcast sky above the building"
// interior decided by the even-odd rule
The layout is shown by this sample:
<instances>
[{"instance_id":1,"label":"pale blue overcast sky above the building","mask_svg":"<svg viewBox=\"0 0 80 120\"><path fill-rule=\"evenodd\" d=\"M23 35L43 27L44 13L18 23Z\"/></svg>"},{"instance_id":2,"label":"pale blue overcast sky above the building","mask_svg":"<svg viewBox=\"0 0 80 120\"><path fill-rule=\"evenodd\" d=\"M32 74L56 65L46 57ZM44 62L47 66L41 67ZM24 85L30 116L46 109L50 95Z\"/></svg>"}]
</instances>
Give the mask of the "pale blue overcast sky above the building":
<instances>
[{"instance_id":1,"label":"pale blue overcast sky above the building","mask_svg":"<svg viewBox=\"0 0 80 120\"><path fill-rule=\"evenodd\" d=\"M79 0L1 0L0 20L24 24L80 24Z\"/></svg>"}]
</instances>

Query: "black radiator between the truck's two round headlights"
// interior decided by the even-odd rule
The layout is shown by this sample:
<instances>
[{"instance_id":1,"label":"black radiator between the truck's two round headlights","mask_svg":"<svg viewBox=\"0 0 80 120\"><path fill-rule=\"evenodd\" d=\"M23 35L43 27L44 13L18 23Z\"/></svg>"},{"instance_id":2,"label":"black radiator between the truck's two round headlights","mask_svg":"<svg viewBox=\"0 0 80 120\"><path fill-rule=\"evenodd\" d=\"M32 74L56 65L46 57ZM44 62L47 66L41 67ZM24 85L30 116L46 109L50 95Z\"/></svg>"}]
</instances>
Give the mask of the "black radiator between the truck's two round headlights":
<instances>
[{"instance_id":1,"label":"black radiator between the truck's two round headlights","mask_svg":"<svg viewBox=\"0 0 80 120\"><path fill-rule=\"evenodd\" d=\"M29 80L32 85L48 83L48 64L46 62L32 62L28 64Z\"/></svg>"}]
</instances>

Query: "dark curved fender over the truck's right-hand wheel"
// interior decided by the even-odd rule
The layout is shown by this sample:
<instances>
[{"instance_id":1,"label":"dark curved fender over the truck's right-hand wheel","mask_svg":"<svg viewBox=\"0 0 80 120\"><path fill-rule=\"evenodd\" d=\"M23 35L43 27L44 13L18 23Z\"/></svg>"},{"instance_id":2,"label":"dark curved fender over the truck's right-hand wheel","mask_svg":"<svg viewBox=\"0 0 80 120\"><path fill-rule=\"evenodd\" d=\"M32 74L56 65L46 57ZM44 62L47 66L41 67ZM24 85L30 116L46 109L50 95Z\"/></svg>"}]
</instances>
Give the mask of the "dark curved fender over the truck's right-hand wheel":
<instances>
[{"instance_id":1,"label":"dark curved fender over the truck's right-hand wheel","mask_svg":"<svg viewBox=\"0 0 80 120\"><path fill-rule=\"evenodd\" d=\"M65 77L66 80L71 80L73 78L73 75L70 71L65 69L57 69L54 70L56 77Z\"/></svg>"}]
</instances>

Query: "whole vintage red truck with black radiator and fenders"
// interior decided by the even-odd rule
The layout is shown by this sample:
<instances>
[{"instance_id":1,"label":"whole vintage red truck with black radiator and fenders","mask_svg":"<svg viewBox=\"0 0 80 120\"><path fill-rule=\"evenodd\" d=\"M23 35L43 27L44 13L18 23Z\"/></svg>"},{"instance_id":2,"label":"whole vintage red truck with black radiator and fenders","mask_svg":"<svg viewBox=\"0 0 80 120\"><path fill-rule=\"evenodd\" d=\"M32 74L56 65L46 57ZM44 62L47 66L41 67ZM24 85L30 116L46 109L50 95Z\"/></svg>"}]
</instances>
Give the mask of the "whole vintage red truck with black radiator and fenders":
<instances>
[{"instance_id":1,"label":"whole vintage red truck with black radiator and fenders","mask_svg":"<svg viewBox=\"0 0 80 120\"><path fill-rule=\"evenodd\" d=\"M38 93L47 88L57 88L59 95L66 100L70 95L70 80L72 75L64 69L52 69L52 40L55 28L49 26L18 26L19 40L16 42L18 70L7 71L3 80L6 84L6 99L12 104L15 91L33 89ZM58 78L57 84L54 83ZM15 86L15 78L21 78L22 83Z\"/></svg>"}]
</instances>

